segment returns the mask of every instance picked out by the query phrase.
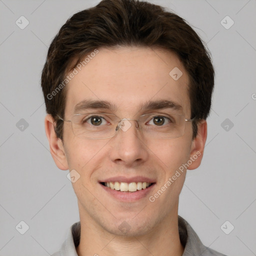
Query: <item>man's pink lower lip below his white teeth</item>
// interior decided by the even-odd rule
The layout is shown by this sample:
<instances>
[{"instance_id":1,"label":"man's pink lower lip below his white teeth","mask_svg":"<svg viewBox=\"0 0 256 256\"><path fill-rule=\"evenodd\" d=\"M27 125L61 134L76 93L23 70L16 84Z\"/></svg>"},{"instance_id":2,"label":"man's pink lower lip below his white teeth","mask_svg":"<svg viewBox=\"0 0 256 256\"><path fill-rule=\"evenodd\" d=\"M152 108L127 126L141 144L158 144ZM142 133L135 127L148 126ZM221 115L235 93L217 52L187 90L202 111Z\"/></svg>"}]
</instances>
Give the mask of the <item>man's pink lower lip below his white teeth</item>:
<instances>
[{"instance_id":1,"label":"man's pink lower lip below his white teeth","mask_svg":"<svg viewBox=\"0 0 256 256\"><path fill-rule=\"evenodd\" d=\"M152 185L148 186L145 189L140 189L134 192L115 190L115 189L111 189L110 187L104 186L102 184L100 185L107 193L109 193L114 198L124 202L132 202L132 201L137 201L141 198L146 197L146 195L154 187L155 183L153 183Z\"/></svg>"}]
</instances>

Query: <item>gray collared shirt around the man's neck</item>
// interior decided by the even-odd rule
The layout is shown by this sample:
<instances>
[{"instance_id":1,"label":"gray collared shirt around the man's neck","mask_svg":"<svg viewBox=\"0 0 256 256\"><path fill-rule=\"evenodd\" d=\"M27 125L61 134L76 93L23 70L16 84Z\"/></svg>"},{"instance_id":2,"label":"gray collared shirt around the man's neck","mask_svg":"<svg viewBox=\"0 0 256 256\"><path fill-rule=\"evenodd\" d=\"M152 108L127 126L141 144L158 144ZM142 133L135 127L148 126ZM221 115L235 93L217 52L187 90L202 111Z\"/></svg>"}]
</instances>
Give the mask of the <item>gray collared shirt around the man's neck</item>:
<instances>
[{"instance_id":1,"label":"gray collared shirt around the man's neck","mask_svg":"<svg viewBox=\"0 0 256 256\"><path fill-rule=\"evenodd\" d=\"M182 256L225 256L202 244L192 227L182 217L178 216L178 231L181 244L184 246ZM67 234L61 249L52 256L77 256L75 247L80 240L80 222L74 223Z\"/></svg>"}]
</instances>

